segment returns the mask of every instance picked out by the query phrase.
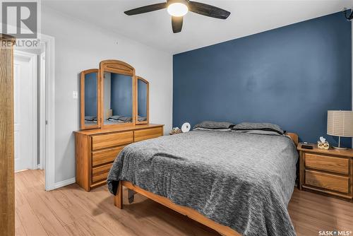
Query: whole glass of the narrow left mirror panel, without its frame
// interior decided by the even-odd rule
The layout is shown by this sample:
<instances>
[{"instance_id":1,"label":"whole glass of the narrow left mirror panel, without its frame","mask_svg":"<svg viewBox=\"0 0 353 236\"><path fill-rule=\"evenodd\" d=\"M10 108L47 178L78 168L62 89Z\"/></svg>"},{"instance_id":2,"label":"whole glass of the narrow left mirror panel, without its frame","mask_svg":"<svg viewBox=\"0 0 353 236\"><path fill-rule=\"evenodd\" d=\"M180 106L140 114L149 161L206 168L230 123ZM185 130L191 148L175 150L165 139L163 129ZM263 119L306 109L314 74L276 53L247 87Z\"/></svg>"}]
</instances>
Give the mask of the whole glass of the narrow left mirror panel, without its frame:
<instances>
[{"instance_id":1,"label":"whole glass of the narrow left mirror panel, without its frame","mask_svg":"<svg viewBox=\"0 0 353 236\"><path fill-rule=\"evenodd\" d=\"M97 125L97 72L85 74L85 126Z\"/></svg>"}]
</instances>

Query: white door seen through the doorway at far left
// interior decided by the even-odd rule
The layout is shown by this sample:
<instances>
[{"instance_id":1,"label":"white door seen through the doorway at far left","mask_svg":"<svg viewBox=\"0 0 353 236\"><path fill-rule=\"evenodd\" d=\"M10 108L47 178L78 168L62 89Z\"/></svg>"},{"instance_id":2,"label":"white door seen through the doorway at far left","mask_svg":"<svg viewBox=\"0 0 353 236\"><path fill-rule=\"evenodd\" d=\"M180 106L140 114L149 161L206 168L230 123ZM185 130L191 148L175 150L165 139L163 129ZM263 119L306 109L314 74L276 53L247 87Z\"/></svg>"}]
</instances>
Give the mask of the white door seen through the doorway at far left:
<instances>
[{"instance_id":1,"label":"white door seen through the doorway at far left","mask_svg":"<svg viewBox=\"0 0 353 236\"><path fill-rule=\"evenodd\" d=\"M37 54L16 50L13 54L15 172L38 167Z\"/></svg>"}]
</instances>

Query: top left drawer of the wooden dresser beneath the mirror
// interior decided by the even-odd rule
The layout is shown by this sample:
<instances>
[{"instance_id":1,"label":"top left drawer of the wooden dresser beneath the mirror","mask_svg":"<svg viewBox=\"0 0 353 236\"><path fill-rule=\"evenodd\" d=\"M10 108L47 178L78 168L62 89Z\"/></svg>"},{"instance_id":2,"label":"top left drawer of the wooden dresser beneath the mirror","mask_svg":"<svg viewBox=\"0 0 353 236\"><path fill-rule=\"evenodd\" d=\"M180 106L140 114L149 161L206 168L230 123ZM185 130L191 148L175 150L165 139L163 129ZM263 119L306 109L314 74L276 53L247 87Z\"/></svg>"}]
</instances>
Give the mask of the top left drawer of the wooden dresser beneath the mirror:
<instances>
[{"instance_id":1,"label":"top left drawer of the wooden dresser beneath the mirror","mask_svg":"<svg viewBox=\"0 0 353 236\"><path fill-rule=\"evenodd\" d=\"M92 150L133 143L133 131L92 136Z\"/></svg>"}]
</instances>

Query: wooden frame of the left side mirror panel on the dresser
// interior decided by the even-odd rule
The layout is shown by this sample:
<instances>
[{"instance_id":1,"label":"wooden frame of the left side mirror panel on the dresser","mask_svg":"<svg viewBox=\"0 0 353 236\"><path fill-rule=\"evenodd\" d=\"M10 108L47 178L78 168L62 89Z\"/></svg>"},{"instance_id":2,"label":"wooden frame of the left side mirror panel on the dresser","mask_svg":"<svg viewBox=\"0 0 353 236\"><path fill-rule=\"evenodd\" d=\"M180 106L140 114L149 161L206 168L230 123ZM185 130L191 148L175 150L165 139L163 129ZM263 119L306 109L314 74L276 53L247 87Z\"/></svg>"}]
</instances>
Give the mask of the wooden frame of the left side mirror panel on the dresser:
<instances>
[{"instance_id":1,"label":"wooden frame of the left side mirror panel on the dresser","mask_svg":"<svg viewBox=\"0 0 353 236\"><path fill-rule=\"evenodd\" d=\"M85 125L85 75L88 73L97 73L97 124L96 125ZM99 69L88 69L80 73L80 129L97 129L101 126L100 117L100 73Z\"/></svg>"}]
</instances>

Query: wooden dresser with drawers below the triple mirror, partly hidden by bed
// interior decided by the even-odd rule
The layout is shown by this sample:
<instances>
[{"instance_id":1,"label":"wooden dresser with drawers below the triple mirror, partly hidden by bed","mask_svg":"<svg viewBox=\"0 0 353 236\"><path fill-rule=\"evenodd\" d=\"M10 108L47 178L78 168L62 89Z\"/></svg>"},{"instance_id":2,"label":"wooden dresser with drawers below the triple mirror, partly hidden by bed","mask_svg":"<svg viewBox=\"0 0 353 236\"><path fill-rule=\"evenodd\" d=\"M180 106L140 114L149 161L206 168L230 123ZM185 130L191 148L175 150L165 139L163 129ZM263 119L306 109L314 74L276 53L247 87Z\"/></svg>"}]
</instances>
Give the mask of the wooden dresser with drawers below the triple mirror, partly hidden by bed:
<instances>
[{"instance_id":1,"label":"wooden dresser with drawers below the triple mirror, partly hidden by bed","mask_svg":"<svg viewBox=\"0 0 353 236\"><path fill-rule=\"evenodd\" d=\"M76 183L86 191L106 184L112 163L126 145L162 135L162 124L75 131Z\"/></svg>"}]
</instances>

